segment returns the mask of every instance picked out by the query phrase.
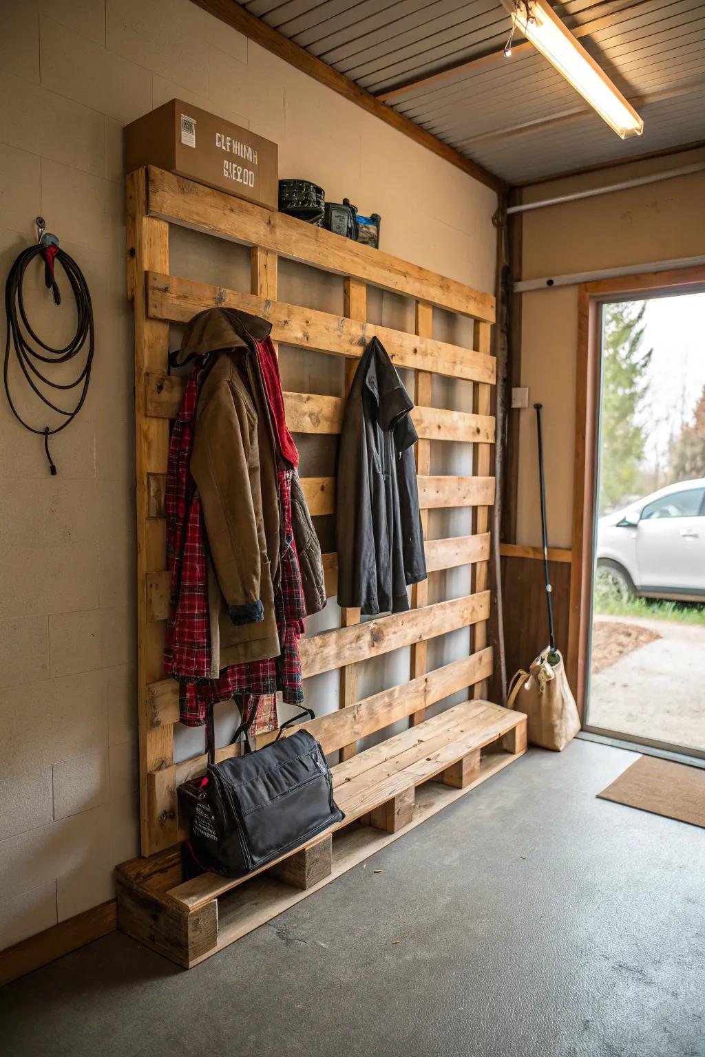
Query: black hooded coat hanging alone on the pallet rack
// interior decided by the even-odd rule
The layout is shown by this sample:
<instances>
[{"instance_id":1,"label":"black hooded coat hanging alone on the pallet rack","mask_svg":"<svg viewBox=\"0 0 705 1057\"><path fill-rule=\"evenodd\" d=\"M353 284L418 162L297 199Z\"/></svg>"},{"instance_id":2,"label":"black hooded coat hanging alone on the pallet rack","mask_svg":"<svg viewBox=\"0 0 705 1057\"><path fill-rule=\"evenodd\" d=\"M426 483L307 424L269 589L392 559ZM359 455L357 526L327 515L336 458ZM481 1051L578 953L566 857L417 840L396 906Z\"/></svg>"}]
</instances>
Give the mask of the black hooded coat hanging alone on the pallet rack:
<instances>
[{"instance_id":1,"label":"black hooded coat hanging alone on the pallet rack","mask_svg":"<svg viewBox=\"0 0 705 1057\"><path fill-rule=\"evenodd\" d=\"M426 579L412 407L372 338L346 403L336 489L338 605L366 614L408 609L407 586Z\"/></svg>"}]
</instances>

